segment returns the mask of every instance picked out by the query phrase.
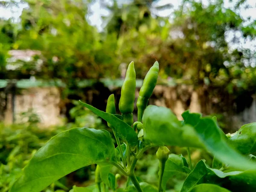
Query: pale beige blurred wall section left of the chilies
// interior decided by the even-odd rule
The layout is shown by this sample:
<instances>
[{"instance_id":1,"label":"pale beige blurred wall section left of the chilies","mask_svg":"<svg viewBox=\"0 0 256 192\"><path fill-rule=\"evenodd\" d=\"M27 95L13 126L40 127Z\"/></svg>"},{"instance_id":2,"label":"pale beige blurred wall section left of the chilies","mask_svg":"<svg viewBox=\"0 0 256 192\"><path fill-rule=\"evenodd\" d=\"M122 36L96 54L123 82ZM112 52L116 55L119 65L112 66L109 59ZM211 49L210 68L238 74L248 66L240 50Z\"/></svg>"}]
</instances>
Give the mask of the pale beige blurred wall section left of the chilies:
<instances>
[{"instance_id":1,"label":"pale beige blurred wall section left of the chilies","mask_svg":"<svg viewBox=\"0 0 256 192\"><path fill-rule=\"evenodd\" d=\"M6 123L23 122L29 118L26 113L35 113L45 126L58 125L60 119L60 93L57 87L32 87L16 94L7 94L4 121ZM12 105L14 104L14 108ZM32 110L32 111L31 111ZM23 113L23 114L22 114ZM29 115L29 114L28 114Z\"/></svg>"}]
</instances>

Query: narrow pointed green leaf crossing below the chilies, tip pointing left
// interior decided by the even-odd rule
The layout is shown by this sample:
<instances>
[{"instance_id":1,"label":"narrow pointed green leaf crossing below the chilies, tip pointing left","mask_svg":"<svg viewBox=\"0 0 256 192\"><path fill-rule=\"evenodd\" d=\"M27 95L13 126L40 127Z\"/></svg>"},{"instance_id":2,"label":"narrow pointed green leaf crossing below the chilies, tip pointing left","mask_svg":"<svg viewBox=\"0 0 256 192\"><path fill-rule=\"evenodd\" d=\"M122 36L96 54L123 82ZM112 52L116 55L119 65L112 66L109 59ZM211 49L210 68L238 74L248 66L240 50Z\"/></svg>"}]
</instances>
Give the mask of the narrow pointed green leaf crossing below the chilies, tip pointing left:
<instances>
[{"instance_id":1,"label":"narrow pointed green leaf crossing below the chilies, tip pointing left","mask_svg":"<svg viewBox=\"0 0 256 192\"><path fill-rule=\"evenodd\" d=\"M113 114L100 111L99 109L96 109L93 106L83 102L81 102L81 104L84 105L84 107L90 109L90 111L93 111L93 113L100 116L105 121L109 122L116 129L116 134L118 137L127 141L132 147L137 145L137 134L134 131L134 129L127 123L123 122L121 119L119 119Z\"/></svg>"}]
</instances>

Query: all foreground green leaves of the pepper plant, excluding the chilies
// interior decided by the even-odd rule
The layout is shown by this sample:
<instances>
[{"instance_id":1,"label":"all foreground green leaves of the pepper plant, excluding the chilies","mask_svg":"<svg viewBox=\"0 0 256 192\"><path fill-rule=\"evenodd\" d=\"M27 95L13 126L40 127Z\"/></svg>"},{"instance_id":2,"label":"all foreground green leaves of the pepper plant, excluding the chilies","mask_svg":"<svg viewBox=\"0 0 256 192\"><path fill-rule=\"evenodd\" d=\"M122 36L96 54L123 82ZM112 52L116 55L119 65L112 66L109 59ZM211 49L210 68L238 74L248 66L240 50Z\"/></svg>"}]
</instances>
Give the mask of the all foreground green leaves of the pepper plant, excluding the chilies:
<instances>
[{"instance_id":1,"label":"all foreground green leaves of the pepper plant, excluding the chilies","mask_svg":"<svg viewBox=\"0 0 256 192\"><path fill-rule=\"evenodd\" d=\"M185 180L181 192L256 190L256 163L251 154L256 152L256 123L242 126L235 134L225 135L218 127L216 118L185 111L182 114L184 120L179 121L170 109L149 105L143 115L143 134L138 138L137 132L120 116L81 104L113 125L118 137L131 149L138 145L140 152L134 156L133 162L137 162L141 154L152 146L194 147L212 154L212 166L200 160L195 168L189 166L183 155L169 154L163 173L163 191L168 180L174 176ZM126 148L127 145L123 144L125 158ZM55 180L90 164L99 164L101 168L102 189L106 185L107 189L110 187L116 192L137 190L134 186L127 186L126 189L116 186L115 176L110 171L112 166L121 169L123 162L108 131L73 128L52 137L35 153L10 192L40 192ZM129 172L122 172L130 177ZM140 183L140 186L145 192L157 191L155 186L148 183ZM71 192L98 190L96 186L74 186Z\"/></svg>"}]
</instances>

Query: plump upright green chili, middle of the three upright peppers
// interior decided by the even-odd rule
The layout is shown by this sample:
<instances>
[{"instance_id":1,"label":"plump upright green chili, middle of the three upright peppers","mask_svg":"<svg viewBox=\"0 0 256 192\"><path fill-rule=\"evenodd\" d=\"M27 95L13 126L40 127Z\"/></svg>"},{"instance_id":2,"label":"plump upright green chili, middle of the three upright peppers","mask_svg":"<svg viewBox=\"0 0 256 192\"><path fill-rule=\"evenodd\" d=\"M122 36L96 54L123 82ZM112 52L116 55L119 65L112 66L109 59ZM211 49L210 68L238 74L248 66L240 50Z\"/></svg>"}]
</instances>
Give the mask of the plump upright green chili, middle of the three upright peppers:
<instances>
[{"instance_id":1,"label":"plump upright green chili, middle of the three upright peppers","mask_svg":"<svg viewBox=\"0 0 256 192\"><path fill-rule=\"evenodd\" d=\"M136 89L136 73L134 69L134 62L131 61L129 64L125 81L121 89L121 97L119 101L119 110L122 113L123 121L132 125L133 123L133 110L134 110L134 99Z\"/></svg>"}]
</instances>

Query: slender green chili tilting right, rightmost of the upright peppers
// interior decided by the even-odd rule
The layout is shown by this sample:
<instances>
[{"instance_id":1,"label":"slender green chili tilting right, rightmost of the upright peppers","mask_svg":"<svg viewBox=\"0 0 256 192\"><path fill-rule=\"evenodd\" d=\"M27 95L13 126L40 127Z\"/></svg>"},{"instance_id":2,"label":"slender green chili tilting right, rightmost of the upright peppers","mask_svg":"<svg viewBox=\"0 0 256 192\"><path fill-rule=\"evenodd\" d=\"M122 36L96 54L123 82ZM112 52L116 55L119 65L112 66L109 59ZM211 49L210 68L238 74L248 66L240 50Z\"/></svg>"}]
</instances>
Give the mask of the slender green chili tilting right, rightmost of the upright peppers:
<instances>
[{"instance_id":1,"label":"slender green chili tilting right, rightmost of the upright peppers","mask_svg":"<svg viewBox=\"0 0 256 192\"><path fill-rule=\"evenodd\" d=\"M157 84L158 71L159 63L156 61L154 65L149 69L143 81L143 85L140 88L140 94L137 100L138 121L141 121L143 112L148 105L148 99L151 97L154 87Z\"/></svg>"}]
</instances>

